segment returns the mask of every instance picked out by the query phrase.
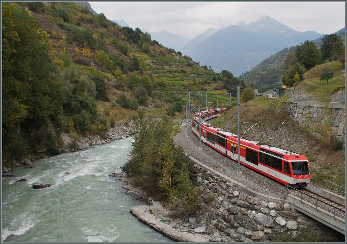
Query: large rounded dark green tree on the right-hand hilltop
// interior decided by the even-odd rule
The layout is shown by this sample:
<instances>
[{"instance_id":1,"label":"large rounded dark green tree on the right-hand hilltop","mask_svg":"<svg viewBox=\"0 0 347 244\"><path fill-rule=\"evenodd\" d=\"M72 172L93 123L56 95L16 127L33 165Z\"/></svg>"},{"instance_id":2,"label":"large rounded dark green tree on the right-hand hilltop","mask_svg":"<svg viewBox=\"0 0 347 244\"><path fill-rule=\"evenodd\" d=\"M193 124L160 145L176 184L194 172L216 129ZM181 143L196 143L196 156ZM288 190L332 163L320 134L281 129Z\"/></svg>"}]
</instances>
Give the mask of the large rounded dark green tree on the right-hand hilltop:
<instances>
[{"instance_id":1,"label":"large rounded dark green tree on the right-hand hilltop","mask_svg":"<svg viewBox=\"0 0 347 244\"><path fill-rule=\"evenodd\" d=\"M314 41L307 40L296 47L295 56L298 62L305 66L306 69L311 69L321 60L321 52L318 50Z\"/></svg>"}]
</instances>

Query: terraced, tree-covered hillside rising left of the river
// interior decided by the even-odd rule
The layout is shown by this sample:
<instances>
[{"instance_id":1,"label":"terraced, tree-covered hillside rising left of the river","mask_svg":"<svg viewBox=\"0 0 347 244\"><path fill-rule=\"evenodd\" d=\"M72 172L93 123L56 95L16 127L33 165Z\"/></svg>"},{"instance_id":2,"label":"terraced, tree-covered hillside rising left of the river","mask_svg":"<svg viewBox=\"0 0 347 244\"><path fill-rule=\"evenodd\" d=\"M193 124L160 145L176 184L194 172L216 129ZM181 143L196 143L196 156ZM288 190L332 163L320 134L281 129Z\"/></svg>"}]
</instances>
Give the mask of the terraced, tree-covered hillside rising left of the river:
<instances>
[{"instance_id":1,"label":"terraced, tree-covered hillside rising left of the river","mask_svg":"<svg viewBox=\"0 0 347 244\"><path fill-rule=\"evenodd\" d=\"M59 154L61 133L76 141L105 137L110 125L127 123L138 108L184 118L187 89L195 96L206 91L214 102L209 106L217 107L226 91L214 90L229 78L241 86L138 28L120 27L72 2L4 3L2 17L5 166L28 155Z\"/></svg>"}]
</instances>

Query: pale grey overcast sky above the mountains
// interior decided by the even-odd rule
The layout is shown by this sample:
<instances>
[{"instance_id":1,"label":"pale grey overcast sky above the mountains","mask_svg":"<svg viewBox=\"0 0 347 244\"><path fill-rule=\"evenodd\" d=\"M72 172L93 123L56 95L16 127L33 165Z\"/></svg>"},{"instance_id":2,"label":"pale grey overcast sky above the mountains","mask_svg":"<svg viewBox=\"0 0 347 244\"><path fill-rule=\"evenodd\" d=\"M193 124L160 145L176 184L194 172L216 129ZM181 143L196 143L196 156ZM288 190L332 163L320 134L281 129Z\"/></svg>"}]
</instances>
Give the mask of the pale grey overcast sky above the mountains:
<instances>
[{"instance_id":1,"label":"pale grey overcast sky above the mountains","mask_svg":"<svg viewBox=\"0 0 347 244\"><path fill-rule=\"evenodd\" d=\"M266 15L295 31L331 34L345 27L346 2L89 2L110 20L158 32L194 38L209 27L240 21L249 24Z\"/></svg>"}]
</instances>

